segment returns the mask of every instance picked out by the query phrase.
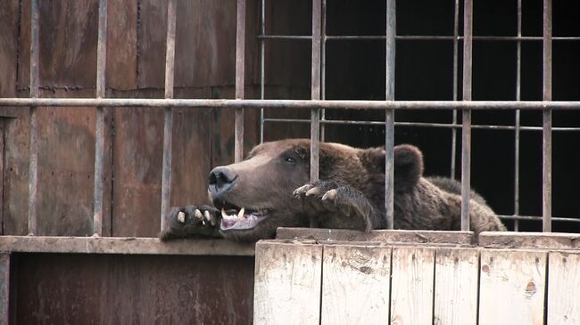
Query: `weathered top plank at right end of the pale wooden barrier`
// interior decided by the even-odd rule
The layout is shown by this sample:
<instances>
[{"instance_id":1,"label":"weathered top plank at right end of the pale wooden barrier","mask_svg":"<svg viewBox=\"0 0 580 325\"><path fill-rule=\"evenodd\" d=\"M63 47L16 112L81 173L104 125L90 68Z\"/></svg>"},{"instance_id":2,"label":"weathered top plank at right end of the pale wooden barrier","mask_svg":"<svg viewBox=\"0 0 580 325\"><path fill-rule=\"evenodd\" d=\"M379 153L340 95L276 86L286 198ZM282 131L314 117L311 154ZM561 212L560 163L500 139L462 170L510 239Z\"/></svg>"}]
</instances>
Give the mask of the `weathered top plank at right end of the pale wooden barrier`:
<instances>
[{"instance_id":1,"label":"weathered top plank at right end of the pale wooden barrier","mask_svg":"<svg viewBox=\"0 0 580 325\"><path fill-rule=\"evenodd\" d=\"M580 248L580 234L554 232L481 232L479 246L485 248Z\"/></svg>"}]
</instances>

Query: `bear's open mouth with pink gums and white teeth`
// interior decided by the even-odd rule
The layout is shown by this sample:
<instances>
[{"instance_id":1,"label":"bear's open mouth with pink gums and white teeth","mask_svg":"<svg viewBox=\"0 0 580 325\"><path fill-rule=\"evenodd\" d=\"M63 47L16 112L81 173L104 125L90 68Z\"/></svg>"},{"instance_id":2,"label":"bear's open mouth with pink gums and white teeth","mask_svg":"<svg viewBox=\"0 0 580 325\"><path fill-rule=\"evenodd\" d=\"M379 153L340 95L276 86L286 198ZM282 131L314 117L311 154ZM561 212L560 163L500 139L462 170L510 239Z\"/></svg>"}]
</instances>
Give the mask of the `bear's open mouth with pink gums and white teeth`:
<instances>
[{"instance_id":1,"label":"bear's open mouth with pink gums and white teeth","mask_svg":"<svg viewBox=\"0 0 580 325\"><path fill-rule=\"evenodd\" d=\"M268 218L271 213L268 208L235 207L230 204L226 206L221 207L220 230L222 231L252 229Z\"/></svg>"}]
</instances>

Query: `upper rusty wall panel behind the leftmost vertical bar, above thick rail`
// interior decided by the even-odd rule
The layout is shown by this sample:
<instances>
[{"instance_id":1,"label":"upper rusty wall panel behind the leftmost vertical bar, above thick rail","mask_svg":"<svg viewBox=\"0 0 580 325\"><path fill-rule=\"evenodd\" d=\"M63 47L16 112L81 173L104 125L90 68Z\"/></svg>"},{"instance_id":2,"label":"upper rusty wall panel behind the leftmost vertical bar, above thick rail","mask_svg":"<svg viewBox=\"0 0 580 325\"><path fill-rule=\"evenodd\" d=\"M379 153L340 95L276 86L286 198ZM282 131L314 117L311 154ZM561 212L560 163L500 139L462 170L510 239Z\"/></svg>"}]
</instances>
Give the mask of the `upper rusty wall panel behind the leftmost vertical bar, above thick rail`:
<instances>
[{"instance_id":1,"label":"upper rusty wall panel behind the leftmost vertical bar, above thick rail","mask_svg":"<svg viewBox=\"0 0 580 325\"><path fill-rule=\"evenodd\" d=\"M95 88L97 0L39 0L38 10L40 86ZM29 21L30 2L22 1L22 27L29 26ZM29 37L29 28L21 28L21 58L29 58ZM19 86L29 84L28 75L29 61L21 60Z\"/></svg>"}]
</instances>

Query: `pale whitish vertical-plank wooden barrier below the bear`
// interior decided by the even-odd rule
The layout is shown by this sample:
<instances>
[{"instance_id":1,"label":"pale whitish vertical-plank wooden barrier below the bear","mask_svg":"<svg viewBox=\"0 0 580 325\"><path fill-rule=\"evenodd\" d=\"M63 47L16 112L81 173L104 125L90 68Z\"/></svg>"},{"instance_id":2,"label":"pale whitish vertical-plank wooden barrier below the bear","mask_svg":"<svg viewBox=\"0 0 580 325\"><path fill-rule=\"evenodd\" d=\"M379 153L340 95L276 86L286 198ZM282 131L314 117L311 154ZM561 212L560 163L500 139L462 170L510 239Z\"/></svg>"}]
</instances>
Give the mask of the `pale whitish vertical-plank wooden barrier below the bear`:
<instances>
[{"instance_id":1,"label":"pale whitish vertical-plank wooden barrier below the bear","mask_svg":"<svg viewBox=\"0 0 580 325\"><path fill-rule=\"evenodd\" d=\"M290 237L288 230L282 233ZM538 242L533 234L510 241L526 249L450 247L444 240L412 245L405 236L417 233L390 237L402 243L388 242L384 233L370 236L384 242L320 240L312 234L310 240L297 235L258 242L254 322L580 323L580 250L562 248L565 234L555 234L555 240L537 235L557 242L557 249L529 248ZM486 236L490 244L497 234ZM509 241L508 234L500 236Z\"/></svg>"}]
</instances>

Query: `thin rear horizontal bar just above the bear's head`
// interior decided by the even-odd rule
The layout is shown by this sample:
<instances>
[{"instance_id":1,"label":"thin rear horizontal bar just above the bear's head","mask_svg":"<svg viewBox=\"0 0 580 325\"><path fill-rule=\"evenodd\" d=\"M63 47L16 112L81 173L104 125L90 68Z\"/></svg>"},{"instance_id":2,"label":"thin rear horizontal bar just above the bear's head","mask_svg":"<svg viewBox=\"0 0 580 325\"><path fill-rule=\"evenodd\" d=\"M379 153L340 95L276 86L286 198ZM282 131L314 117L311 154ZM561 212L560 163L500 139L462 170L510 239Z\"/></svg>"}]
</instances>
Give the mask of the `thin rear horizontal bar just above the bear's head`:
<instances>
[{"instance_id":1,"label":"thin rear horizontal bar just above the bear's head","mask_svg":"<svg viewBox=\"0 0 580 325\"><path fill-rule=\"evenodd\" d=\"M311 123L310 119L299 118L264 118L264 122L274 123ZM353 125L353 126L385 126L382 121L353 121L341 119L321 119L321 124L330 125ZM419 126L419 127L440 127L440 128L461 128L460 124L452 123L426 123L426 122L394 122L395 126ZM472 129L484 130L516 130L516 126L493 126L493 125L471 125ZM542 131L542 126L519 126L520 131ZM574 132L580 131L580 127L552 127L552 131Z\"/></svg>"}]
</instances>

